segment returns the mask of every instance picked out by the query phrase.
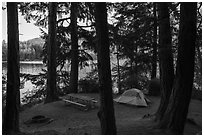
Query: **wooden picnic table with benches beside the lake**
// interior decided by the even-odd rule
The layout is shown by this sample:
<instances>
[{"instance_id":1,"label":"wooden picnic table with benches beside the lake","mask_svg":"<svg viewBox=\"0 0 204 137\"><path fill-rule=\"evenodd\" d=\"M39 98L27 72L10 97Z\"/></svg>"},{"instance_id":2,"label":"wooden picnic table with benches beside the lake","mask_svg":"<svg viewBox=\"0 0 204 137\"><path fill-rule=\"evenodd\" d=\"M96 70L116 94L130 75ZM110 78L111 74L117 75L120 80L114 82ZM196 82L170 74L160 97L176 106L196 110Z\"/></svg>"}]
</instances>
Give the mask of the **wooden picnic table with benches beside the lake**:
<instances>
[{"instance_id":1,"label":"wooden picnic table with benches beside the lake","mask_svg":"<svg viewBox=\"0 0 204 137\"><path fill-rule=\"evenodd\" d=\"M80 108L80 110L89 110L96 108L97 101L89 96L83 96L80 94L68 94L62 98L65 104L74 105Z\"/></svg>"}]
</instances>

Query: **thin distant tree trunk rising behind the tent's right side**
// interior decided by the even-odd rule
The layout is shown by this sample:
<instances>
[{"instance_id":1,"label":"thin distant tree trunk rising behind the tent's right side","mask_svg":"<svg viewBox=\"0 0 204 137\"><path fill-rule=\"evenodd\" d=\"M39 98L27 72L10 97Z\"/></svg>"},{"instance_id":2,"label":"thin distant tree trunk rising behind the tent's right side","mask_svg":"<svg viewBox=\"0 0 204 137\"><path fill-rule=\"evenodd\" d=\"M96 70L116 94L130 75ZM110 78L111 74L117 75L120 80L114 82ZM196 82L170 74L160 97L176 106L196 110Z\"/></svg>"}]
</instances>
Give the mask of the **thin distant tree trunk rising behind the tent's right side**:
<instances>
[{"instance_id":1,"label":"thin distant tree trunk rising behind the tent's right side","mask_svg":"<svg viewBox=\"0 0 204 137\"><path fill-rule=\"evenodd\" d=\"M151 79L157 76L157 13L156 3L153 3L153 14L154 14L154 36L153 36L153 56L152 56L152 74Z\"/></svg>"}]
</instances>

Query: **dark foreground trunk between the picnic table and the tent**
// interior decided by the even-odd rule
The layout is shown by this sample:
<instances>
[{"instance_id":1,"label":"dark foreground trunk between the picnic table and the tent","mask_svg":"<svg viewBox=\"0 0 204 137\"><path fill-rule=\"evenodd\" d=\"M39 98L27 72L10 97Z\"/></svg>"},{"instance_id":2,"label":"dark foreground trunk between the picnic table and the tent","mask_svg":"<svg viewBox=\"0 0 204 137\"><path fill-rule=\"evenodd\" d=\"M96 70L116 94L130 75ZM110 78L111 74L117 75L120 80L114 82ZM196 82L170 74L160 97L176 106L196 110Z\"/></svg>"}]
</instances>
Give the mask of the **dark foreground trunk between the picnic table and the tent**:
<instances>
[{"instance_id":1,"label":"dark foreground trunk between the picnic table and the tent","mask_svg":"<svg viewBox=\"0 0 204 137\"><path fill-rule=\"evenodd\" d=\"M98 117L101 122L103 135L116 134L112 81L110 70L110 49L107 28L106 3L95 3L96 13L96 35L97 35L97 57L100 90L100 110Z\"/></svg>"}]
</instances>

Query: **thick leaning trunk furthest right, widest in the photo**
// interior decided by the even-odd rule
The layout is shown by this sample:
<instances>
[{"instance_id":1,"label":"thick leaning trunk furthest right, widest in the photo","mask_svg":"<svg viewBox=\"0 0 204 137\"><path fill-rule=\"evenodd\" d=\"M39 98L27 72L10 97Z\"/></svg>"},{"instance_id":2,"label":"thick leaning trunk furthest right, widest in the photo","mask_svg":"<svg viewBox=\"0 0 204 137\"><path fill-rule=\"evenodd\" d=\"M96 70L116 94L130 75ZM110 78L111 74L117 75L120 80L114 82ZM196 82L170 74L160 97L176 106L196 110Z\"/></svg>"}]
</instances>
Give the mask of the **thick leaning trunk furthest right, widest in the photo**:
<instances>
[{"instance_id":1,"label":"thick leaning trunk furthest right, widest in the photo","mask_svg":"<svg viewBox=\"0 0 204 137\"><path fill-rule=\"evenodd\" d=\"M179 26L179 47L176 78L165 117L161 122L174 134L183 134L188 107L191 100L195 41L196 41L196 8L197 3L181 3Z\"/></svg>"}]
</instances>

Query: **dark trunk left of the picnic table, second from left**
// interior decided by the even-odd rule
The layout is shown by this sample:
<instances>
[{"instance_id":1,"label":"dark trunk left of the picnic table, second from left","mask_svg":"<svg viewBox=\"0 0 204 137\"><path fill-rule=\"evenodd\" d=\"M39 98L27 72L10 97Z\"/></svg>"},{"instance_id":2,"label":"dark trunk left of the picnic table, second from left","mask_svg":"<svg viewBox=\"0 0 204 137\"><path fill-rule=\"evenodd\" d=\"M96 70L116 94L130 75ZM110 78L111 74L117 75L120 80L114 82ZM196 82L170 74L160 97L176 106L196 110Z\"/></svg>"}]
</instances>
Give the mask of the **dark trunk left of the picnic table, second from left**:
<instances>
[{"instance_id":1,"label":"dark trunk left of the picnic table, second from left","mask_svg":"<svg viewBox=\"0 0 204 137\"><path fill-rule=\"evenodd\" d=\"M48 65L47 65L47 95L45 103L50 103L58 100L56 88L56 13L57 3L49 3L48 15Z\"/></svg>"}]
</instances>

